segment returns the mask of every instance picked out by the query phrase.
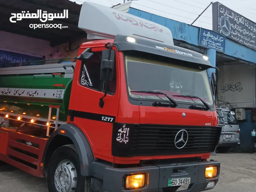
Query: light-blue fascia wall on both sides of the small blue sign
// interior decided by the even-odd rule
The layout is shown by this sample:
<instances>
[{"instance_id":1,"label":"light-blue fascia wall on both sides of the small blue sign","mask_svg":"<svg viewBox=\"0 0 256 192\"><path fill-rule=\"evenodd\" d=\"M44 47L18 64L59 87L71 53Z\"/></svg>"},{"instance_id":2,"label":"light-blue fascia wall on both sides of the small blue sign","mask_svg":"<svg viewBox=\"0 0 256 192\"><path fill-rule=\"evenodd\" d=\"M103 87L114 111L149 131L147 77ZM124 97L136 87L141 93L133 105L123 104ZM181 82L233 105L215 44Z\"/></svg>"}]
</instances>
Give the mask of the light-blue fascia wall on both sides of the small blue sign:
<instances>
[{"instance_id":1,"label":"light-blue fascia wall on both sides of the small blue sign","mask_svg":"<svg viewBox=\"0 0 256 192\"><path fill-rule=\"evenodd\" d=\"M134 8L130 8L128 13L166 26L171 30L174 39L183 40L189 44L198 46L200 28L196 26L157 16ZM256 63L256 51L240 45L228 38L226 38L224 54Z\"/></svg>"}]
</instances>

